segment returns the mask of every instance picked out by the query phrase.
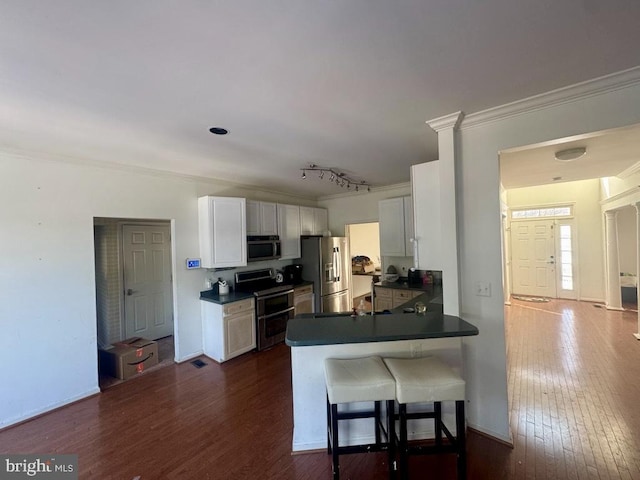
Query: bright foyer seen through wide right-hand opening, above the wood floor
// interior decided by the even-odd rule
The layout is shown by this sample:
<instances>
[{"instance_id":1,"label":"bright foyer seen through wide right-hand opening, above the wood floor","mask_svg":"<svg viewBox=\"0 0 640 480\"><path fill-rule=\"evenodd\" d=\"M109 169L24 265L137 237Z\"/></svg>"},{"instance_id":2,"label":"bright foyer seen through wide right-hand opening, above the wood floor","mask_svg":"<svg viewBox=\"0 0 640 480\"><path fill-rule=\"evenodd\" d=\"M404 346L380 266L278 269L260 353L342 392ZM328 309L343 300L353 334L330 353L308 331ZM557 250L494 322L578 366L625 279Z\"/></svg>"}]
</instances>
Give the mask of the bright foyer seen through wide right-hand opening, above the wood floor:
<instances>
[{"instance_id":1,"label":"bright foyer seen through wide right-hand opening, above the wood floor","mask_svg":"<svg viewBox=\"0 0 640 480\"><path fill-rule=\"evenodd\" d=\"M621 290L637 296L639 132L631 125L498 152L505 303L526 293L619 310ZM586 153L559 161L573 147Z\"/></svg>"}]
</instances>

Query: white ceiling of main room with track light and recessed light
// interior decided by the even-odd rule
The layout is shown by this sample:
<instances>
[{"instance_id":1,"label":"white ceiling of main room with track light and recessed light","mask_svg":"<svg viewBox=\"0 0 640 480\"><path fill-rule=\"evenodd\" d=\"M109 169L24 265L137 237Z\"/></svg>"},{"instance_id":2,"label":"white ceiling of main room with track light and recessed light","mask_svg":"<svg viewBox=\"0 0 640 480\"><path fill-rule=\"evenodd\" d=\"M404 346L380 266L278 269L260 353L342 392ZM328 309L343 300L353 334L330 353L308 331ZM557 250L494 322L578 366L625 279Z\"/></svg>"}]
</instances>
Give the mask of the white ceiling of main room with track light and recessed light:
<instances>
[{"instance_id":1,"label":"white ceiling of main room with track light and recessed light","mask_svg":"<svg viewBox=\"0 0 640 480\"><path fill-rule=\"evenodd\" d=\"M426 120L637 66L639 24L637 0L3 0L0 149L390 185L437 158Z\"/></svg>"}]
</instances>

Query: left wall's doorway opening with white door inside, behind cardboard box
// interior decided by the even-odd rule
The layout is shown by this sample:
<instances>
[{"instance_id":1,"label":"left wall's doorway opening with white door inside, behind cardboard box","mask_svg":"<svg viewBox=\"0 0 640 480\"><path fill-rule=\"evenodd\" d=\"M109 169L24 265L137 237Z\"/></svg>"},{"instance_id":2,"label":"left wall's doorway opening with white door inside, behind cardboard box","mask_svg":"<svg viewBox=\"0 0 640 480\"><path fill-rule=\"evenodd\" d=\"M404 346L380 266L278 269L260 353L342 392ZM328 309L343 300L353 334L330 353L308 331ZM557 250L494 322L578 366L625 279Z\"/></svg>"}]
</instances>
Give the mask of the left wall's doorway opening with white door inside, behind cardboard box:
<instances>
[{"instance_id":1,"label":"left wall's doorway opening with white door inside, behind cardboard box","mask_svg":"<svg viewBox=\"0 0 640 480\"><path fill-rule=\"evenodd\" d=\"M140 337L157 342L158 367L173 363L171 222L94 218L94 251L97 348ZM98 376L101 389L122 382Z\"/></svg>"}]
</instances>

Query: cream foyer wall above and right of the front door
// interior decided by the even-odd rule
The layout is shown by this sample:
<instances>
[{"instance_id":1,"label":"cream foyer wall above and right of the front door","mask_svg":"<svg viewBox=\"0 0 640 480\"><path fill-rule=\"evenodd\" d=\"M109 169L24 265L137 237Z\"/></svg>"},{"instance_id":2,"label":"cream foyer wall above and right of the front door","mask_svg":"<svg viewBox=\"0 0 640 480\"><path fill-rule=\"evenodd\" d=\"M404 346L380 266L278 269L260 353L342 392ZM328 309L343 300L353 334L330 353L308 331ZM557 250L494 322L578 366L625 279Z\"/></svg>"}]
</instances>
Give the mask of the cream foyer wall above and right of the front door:
<instances>
[{"instance_id":1,"label":"cream foyer wall above and right of the front door","mask_svg":"<svg viewBox=\"0 0 640 480\"><path fill-rule=\"evenodd\" d=\"M507 190L507 204L510 208L563 203L575 204L579 268L577 287L580 298L604 301L605 273L600 180L596 178Z\"/></svg>"}]
</instances>

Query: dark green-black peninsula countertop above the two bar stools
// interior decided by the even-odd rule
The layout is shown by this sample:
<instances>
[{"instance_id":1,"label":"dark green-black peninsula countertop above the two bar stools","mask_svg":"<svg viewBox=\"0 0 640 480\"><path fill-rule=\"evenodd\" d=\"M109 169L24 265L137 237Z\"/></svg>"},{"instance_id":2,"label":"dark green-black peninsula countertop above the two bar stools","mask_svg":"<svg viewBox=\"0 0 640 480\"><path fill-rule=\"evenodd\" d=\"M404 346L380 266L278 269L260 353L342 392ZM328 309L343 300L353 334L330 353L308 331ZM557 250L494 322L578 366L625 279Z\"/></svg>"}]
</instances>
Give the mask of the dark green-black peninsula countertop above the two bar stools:
<instances>
[{"instance_id":1,"label":"dark green-black peninsula countertop above the two bar stools","mask_svg":"<svg viewBox=\"0 0 640 480\"><path fill-rule=\"evenodd\" d=\"M289 320L285 342L290 347L304 347L471 335L478 335L477 327L459 317L440 312L357 317L316 317L309 313L297 315L293 320Z\"/></svg>"}]
</instances>

